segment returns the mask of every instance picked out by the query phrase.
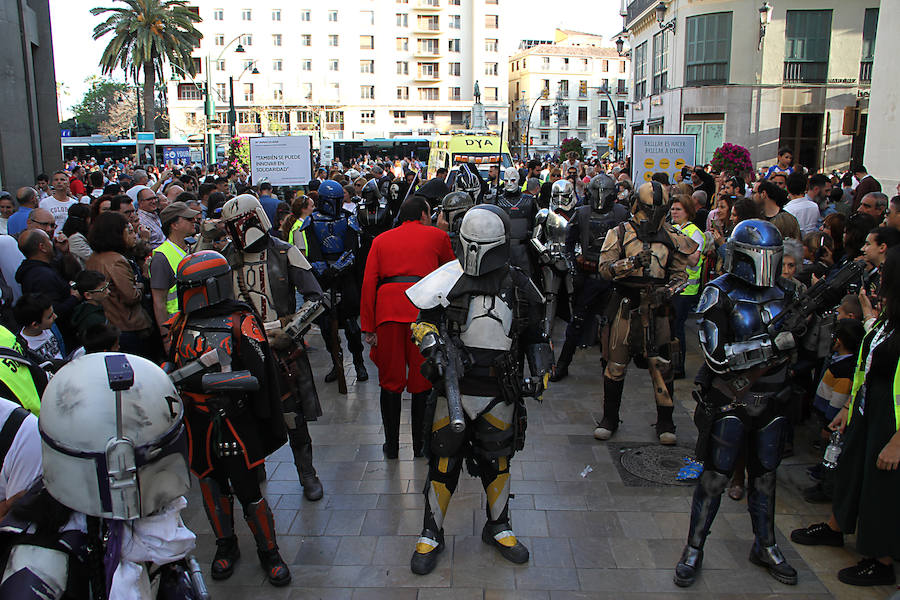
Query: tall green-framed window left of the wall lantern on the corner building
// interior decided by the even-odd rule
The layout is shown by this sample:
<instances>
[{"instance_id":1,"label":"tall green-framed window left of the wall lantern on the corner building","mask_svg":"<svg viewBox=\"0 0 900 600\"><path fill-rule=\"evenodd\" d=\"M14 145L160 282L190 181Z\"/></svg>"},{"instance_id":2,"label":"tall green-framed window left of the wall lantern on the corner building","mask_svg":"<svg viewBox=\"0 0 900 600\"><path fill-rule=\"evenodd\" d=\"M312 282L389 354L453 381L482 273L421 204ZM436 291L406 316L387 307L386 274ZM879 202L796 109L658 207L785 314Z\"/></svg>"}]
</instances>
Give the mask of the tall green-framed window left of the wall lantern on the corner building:
<instances>
[{"instance_id":1,"label":"tall green-framed window left of the wall lantern on the corner building","mask_svg":"<svg viewBox=\"0 0 900 600\"><path fill-rule=\"evenodd\" d=\"M687 85L728 83L728 67L731 61L731 13L688 17L685 26L687 29L685 83ZM635 94L635 97L641 96Z\"/></svg>"}]
</instances>

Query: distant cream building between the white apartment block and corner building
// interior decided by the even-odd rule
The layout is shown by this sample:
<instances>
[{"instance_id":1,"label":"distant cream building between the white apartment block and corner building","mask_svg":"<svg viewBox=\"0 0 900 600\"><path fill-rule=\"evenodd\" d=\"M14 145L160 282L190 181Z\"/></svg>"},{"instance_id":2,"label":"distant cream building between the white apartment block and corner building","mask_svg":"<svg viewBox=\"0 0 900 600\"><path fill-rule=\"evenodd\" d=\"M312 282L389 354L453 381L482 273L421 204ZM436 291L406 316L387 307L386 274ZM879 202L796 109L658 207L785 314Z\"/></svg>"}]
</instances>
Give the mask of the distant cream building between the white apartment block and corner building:
<instances>
[{"instance_id":1,"label":"distant cream building between the white apartment block and corner building","mask_svg":"<svg viewBox=\"0 0 900 600\"><path fill-rule=\"evenodd\" d=\"M622 138L628 59L601 36L557 29L552 43L523 41L508 63L509 140L520 156L555 152L566 138L602 155L617 124Z\"/></svg>"}]
</instances>

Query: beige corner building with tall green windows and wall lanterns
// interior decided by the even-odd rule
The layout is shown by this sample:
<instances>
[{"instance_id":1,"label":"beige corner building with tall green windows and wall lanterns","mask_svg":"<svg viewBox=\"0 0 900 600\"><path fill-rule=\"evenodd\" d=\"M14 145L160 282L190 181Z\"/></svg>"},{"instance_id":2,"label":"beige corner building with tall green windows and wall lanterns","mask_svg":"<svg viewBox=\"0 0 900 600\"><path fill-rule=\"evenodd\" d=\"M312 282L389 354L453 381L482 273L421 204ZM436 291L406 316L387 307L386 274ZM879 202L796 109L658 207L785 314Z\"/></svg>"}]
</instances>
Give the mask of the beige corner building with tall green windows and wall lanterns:
<instances>
[{"instance_id":1,"label":"beige corner building with tall green windows and wall lanterns","mask_svg":"<svg viewBox=\"0 0 900 600\"><path fill-rule=\"evenodd\" d=\"M812 171L862 160L878 6L627 2L631 133L696 134L698 164L726 141L747 147L756 166L773 164L780 147Z\"/></svg>"}]
</instances>

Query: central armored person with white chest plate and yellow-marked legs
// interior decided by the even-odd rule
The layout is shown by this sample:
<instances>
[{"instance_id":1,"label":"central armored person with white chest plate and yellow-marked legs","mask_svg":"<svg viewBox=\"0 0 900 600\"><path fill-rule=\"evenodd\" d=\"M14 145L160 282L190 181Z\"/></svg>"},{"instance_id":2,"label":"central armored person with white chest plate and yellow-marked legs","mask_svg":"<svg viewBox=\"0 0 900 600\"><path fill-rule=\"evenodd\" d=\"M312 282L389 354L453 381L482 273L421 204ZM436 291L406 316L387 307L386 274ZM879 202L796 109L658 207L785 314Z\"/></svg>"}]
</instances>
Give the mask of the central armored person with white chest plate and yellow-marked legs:
<instances>
[{"instance_id":1,"label":"central armored person with white chest plate and yellow-marked legs","mask_svg":"<svg viewBox=\"0 0 900 600\"><path fill-rule=\"evenodd\" d=\"M509 561L528 561L510 523L509 463L525 441L523 393L540 397L553 352L541 328L544 299L509 264L509 231L500 208L469 209L459 230L462 264L451 261L406 291L419 309L412 331L422 373L435 384L425 418L432 426L424 527L410 563L419 575L444 548L444 516L464 462L487 494L481 539ZM523 358L533 382L522 379Z\"/></svg>"}]
</instances>

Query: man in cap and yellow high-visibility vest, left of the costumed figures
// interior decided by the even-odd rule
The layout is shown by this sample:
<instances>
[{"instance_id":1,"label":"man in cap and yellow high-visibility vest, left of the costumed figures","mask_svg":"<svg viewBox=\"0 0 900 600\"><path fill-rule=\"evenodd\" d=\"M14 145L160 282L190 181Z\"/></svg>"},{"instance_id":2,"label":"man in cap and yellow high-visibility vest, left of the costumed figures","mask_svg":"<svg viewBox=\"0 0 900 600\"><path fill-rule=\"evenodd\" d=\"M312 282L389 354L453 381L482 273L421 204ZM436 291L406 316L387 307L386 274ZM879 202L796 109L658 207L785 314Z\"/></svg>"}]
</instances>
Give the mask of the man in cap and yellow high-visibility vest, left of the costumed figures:
<instances>
[{"instance_id":1,"label":"man in cap and yellow high-visibility vest, left of the costumed figures","mask_svg":"<svg viewBox=\"0 0 900 600\"><path fill-rule=\"evenodd\" d=\"M153 315L167 352L169 326L166 322L178 312L175 273L178 271L178 263L188 253L184 238L198 232L199 216L198 211L188 208L184 202L173 202L159 215L166 241L153 251L150 261L150 293L153 296Z\"/></svg>"}]
</instances>

